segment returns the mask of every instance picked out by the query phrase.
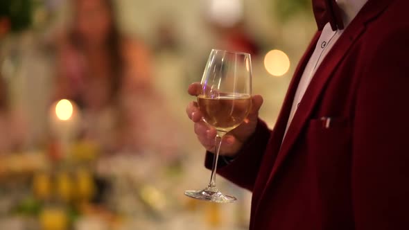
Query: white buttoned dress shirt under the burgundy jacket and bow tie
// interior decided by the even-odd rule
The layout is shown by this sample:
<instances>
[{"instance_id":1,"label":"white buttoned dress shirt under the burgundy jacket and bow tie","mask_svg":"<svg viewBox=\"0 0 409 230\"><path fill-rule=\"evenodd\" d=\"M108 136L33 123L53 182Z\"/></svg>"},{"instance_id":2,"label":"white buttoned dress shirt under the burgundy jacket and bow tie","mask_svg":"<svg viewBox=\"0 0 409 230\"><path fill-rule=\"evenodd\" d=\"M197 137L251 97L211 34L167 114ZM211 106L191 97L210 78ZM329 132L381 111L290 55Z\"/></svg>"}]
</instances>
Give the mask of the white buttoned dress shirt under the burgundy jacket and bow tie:
<instances>
[{"instance_id":1,"label":"white buttoned dress shirt under the burgundy jacket and bow tie","mask_svg":"<svg viewBox=\"0 0 409 230\"><path fill-rule=\"evenodd\" d=\"M338 6L340 6L342 10L342 21L344 22L344 28L347 28L349 23L354 19L354 17L356 17L356 15L358 15L358 12L361 8L363 8L366 2L367 0L337 0ZM320 39L318 39L315 50L311 55L310 60L308 60L304 73L299 80L284 136L287 133L291 121L293 121L293 117L295 112L297 112L299 103L302 103L302 97L304 96L304 93L311 82L311 78L313 78L315 71L318 67L320 67L322 60L324 60L324 57L327 55L327 53L329 53L333 44L336 43L343 32L344 30L333 31L329 23L327 23L322 29Z\"/></svg>"}]
</instances>

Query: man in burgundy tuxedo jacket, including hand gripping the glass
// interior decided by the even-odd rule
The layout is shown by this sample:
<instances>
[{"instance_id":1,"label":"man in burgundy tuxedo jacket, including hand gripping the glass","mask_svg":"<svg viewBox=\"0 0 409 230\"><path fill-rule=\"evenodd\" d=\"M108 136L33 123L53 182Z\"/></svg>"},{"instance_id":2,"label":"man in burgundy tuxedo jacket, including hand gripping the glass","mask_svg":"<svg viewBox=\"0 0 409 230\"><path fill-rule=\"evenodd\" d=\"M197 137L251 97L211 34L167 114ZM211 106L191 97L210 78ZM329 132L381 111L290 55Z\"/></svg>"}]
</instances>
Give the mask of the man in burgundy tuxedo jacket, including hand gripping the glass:
<instances>
[{"instance_id":1,"label":"man in burgundy tuxedo jacket, including hand gripping the glass","mask_svg":"<svg viewBox=\"0 0 409 230\"><path fill-rule=\"evenodd\" d=\"M248 121L225 138L218 173L252 191L250 229L409 229L409 1L313 8L319 30L274 129L253 96ZM197 104L186 112L213 150L216 132ZM212 159L207 152L207 167Z\"/></svg>"}]
</instances>

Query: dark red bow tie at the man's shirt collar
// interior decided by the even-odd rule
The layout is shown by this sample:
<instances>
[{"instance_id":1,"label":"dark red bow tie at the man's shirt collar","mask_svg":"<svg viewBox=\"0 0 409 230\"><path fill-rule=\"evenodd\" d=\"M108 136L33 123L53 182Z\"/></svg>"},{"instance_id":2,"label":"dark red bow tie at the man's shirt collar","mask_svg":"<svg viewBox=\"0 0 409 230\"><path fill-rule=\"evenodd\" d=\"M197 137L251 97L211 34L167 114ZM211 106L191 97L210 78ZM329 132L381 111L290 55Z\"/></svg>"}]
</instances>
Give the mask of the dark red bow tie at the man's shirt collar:
<instances>
[{"instance_id":1,"label":"dark red bow tie at the man's shirt collar","mask_svg":"<svg viewBox=\"0 0 409 230\"><path fill-rule=\"evenodd\" d=\"M322 30L329 22L332 30L343 30L341 9L336 0L313 0L313 11L318 30Z\"/></svg>"}]
</instances>

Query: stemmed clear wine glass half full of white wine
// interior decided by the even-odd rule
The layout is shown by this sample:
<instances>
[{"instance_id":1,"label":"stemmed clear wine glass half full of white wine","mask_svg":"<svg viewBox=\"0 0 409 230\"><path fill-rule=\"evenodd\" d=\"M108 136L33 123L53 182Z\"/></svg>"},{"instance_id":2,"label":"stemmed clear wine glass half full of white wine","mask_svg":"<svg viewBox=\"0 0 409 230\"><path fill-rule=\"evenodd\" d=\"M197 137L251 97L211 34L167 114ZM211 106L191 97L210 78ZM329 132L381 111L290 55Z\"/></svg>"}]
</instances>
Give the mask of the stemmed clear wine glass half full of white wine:
<instances>
[{"instance_id":1,"label":"stemmed clear wine glass half full of white wine","mask_svg":"<svg viewBox=\"0 0 409 230\"><path fill-rule=\"evenodd\" d=\"M209 185L184 195L198 200L227 203L236 197L223 195L216 187L216 168L223 136L240 125L250 112L252 64L250 54L213 49L204 69L198 106L203 121L217 131Z\"/></svg>"}]
</instances>

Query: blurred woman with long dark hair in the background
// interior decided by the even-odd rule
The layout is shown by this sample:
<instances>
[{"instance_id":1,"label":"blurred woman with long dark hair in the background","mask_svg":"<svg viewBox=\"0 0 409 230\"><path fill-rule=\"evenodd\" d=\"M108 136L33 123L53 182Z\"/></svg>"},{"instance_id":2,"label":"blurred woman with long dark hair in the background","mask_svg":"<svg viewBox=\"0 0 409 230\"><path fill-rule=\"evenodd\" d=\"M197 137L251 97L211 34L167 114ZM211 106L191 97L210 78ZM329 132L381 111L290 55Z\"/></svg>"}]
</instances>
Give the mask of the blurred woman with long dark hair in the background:
<instances>
[{"instance_id":1,"label":"blurred woman with long dark hair in the background","mask_svg":"<svg viewBox=\"0 0 409 230\"><path fill-rule=\"evenodd\" d=\"M113 5L110 0L73 1L72 24L59 44L55 99L78 104L84 138L118 151L150 142L146 125L155 125L149 120L155 111L149 105L159 98L148 48L119 33Z\"/></svg>"}]
</instances>

